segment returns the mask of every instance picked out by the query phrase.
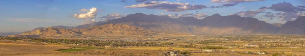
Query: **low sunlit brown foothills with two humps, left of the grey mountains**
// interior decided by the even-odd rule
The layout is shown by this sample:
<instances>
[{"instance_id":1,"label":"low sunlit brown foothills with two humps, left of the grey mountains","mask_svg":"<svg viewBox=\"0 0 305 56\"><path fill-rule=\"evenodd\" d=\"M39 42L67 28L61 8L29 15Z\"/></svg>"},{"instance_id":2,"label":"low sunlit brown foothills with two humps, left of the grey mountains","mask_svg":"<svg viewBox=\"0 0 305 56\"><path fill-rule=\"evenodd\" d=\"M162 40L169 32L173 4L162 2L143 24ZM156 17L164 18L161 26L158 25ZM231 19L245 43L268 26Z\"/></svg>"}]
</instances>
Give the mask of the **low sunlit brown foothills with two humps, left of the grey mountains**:
<instances>
[{"instance_id":1,"label":"low sunlit brown foothills with two humps, left of the grey mountains","mask_svg":"<svg viewBox=\"0 0 305 56\"><path fill-rule=\"evenodd\" d=\"M60 36L60 35L157 35L162 33L151 32L141 27L126 24L105 24L87 27L85 29L63 29L47 27L22 33L21 35Z\"/></svg>"}]
</instances>

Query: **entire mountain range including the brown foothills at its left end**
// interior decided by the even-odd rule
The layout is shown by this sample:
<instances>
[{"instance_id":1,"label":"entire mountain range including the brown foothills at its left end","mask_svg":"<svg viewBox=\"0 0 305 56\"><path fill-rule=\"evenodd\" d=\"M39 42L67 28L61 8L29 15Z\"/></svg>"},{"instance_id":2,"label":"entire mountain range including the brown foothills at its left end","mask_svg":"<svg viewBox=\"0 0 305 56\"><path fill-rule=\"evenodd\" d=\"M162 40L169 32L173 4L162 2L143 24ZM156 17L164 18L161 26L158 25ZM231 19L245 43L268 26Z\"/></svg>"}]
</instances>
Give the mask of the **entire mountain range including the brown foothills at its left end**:
<instances>
[{"instance_id":1,"label":"entire mountain range including the brown foothills at its left end","mask_svg":"<svg viewBox=\"0 0 305 56\"><path fill-rule=\"evenodd\" d=\"M167 15L135 13L119 19L79 26L39 27L21 35L257 35L305 34L305 16L285 24L269 24L252 17L214 14L204 19L171 18Z\"/></svg>"}]
</instances>

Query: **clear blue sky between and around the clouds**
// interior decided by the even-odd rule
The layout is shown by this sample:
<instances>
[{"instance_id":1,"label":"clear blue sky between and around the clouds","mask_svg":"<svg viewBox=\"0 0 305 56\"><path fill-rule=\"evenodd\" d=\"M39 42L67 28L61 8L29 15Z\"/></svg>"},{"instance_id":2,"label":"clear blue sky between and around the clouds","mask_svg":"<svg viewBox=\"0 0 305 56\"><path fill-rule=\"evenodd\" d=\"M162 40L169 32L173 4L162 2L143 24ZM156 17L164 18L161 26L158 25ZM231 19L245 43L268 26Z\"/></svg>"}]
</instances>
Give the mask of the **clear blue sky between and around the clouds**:
<instances>
[{"instance_id":1,"label":"clear blue sky between and around the clouds","mask_svg":"<svg viewBox=\"0 0 305 56\"><path fill-rule=\"evenodd\" d=\"M121 0L2 0L0 1L0 32L24 32L35 29L36 27L49 27L55 25L76 26L80 25L85 19L76 19L74 14L86 13L79 12L81 9L91 9L96 7L97 21L104 20L99 18L108 14L117 13L120 15L128 15L134 13L161 15L167 14L186 14L186 13L204 13L208 16L219 13L222 16L231 15L240 11L260 10L261 7L270 7L272 4L287 2L297 7L299 5L305 6L303 0L265 0L253 2L237 2L237 5L223 7L223 8L203 8L196 10L185 11L165 11L159 9L149 9L145 7L138 8L124 8L126 6L139 5L145 1L137 3L133 0L120 2ZM160 0L162 1L162 0ZM159 1L159 2L160 2ZM194 1L194 2L192 2ZM242 1L242 0L240 0ZM206 7L221 6L232 3L215 3L211 0L164 0L164 2L180 2L189 3L190 5L204 5ZM265 10L265 12L272 12L273 14L284 11L273 11L275 9ZM198 11L198 12L196 12ZM298 11L304 12L304 11ZM287 20L273 18L272 20L265 17L260 17L265 13L260 13L254 16L259 20L268 23L285 23ZM301 13L302 15L304 13ZM286 15L287 16L287 15ZM87 18L89 19L89 18Z\"/></svg>"}]
</instances>

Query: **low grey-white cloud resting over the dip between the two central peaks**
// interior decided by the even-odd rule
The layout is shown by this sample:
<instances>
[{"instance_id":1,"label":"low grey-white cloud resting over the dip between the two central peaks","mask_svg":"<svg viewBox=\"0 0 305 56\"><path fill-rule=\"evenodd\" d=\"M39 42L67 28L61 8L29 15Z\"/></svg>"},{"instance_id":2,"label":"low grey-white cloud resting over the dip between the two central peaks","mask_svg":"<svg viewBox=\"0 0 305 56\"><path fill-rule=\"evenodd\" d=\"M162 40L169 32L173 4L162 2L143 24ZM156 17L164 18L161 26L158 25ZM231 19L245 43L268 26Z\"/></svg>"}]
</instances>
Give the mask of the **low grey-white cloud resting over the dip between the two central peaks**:
<instances>
[{"instance_id":1,"label":"low grey-white cloud resting over the dip between the two central peaks","mask_svg":"<svg viewBox=\"0 0 305 56\"><path fill-rule=\"evenodd\" d=\"M208 15L205 13L189 13L187 12L186 14L177 14L177 13L172 13L172 14L168 14L167 16L172 17L172 18L178 18L178 17L194 17L197 19L203 19L204 17L207 17Z\"/></svg>"}]
</instances>

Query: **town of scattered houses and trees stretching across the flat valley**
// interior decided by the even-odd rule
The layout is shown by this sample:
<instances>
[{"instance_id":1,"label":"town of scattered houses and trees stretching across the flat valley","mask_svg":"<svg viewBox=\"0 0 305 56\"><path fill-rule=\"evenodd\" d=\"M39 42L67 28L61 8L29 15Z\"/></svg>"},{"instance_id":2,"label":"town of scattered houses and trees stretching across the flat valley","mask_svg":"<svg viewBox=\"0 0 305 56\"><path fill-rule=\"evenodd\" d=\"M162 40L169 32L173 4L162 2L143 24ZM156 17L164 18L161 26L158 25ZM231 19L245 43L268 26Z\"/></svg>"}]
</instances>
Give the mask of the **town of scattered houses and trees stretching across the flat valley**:
<instances>
[{"instance_id":1,"label":"town of scattered houses and trees stretching across the flat valley","mask_svg":"<svg viewBox=\"0 0 305 56\"><path fill-rule=\"evenodd\" d=\"M142 36L137 38L93 36L79 39L0 37L0 40L0 42L71 45L70 47L144 49L159 51L159 55L301 55L299 53L305 52L305 35L191 35L181 37Z\"/></svg>"}]
</instances>

